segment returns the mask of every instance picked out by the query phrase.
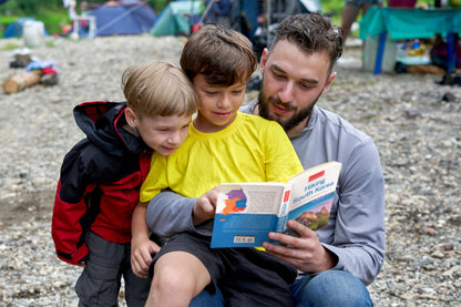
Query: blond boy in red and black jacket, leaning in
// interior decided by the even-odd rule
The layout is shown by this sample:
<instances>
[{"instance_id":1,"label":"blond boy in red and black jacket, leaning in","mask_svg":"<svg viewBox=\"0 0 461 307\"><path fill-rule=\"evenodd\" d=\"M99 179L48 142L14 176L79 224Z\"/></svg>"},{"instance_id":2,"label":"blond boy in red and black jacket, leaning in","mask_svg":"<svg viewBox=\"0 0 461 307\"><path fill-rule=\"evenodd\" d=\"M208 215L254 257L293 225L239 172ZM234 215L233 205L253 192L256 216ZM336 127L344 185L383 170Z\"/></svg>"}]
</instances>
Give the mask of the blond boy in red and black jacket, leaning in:
<instances>
[{"instance_id":1,"label":"blond boy in red and black jacket, leaning in","mask_svg":"<svg viewBox=\"0 0 461 307\"><path fill-rule=\"evenodd\" d=\"M74 108L86 134L64 157L51 233L60 259L84 267L79 306L117 306L121 278L127 306L144 306L151 280L131 269L131 222L152 152L171 155L184 142L197 96L184 72L165 62L127 69L126 102ZM156 253L158 246L150 245Z\"/></svg>"}]
</instances>

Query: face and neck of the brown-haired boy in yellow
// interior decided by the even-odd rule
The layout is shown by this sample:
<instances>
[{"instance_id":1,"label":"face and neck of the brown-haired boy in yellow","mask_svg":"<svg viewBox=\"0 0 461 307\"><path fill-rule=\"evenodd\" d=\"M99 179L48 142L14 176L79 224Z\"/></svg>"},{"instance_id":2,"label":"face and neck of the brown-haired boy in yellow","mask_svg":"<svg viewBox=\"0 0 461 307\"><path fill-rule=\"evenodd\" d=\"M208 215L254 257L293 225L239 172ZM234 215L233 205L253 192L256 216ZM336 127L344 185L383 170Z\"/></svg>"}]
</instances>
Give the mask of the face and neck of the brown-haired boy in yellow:
<instances>
[{"instance_id":1,"label":"face and neck of the brown-haired boy in yellow","mask_svg":"<svg viewBox=\"0 0 461 307\"><path fill-rule=\"evenodd\" d=\"M212 133L230 125L244 102L246 83L216 86L206 82L202 74L197 74L193 84L199 100L194 126L201 132Z\"/></svg>"}]
</instances>

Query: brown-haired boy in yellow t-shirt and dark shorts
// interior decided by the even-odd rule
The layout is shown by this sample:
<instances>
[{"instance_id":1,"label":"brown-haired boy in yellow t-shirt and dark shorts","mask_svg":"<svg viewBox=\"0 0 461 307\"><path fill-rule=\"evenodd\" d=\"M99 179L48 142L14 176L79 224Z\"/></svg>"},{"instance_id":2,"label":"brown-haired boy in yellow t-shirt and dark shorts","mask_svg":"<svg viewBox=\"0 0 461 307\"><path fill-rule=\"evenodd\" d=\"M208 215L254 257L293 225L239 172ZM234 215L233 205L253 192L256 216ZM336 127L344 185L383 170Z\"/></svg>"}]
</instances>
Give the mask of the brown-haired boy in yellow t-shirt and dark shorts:
<instances>
[{"instance_id":1,"label":"brown-haired boy in yellow t-shirt and dark shorts","mask_svg":"<svg viewBox=\"0 0 461 307\"><path fill-rule=\"evenodd\" d=\"M206 198L223 182L286 182L303 171L278 123L238 112L256 68L250 42L242 33L203 27L185 44L181 66L193 82L199 108L184 144L168 157L154 154L141 188L144 204L133 215L132 258L140 276L145 276L150 260L137 249L148 246L146 203L162 190ZM288 285L296 269L291 265L255 248L209 247L211 237L201 229L213 226L214 201L209 199L209 207L194 206L197 233L168 238L156 254L146 306L188 306L203 289L213 294L216 287L229 306L293 305Z\"/></svg>"}]
</instances>

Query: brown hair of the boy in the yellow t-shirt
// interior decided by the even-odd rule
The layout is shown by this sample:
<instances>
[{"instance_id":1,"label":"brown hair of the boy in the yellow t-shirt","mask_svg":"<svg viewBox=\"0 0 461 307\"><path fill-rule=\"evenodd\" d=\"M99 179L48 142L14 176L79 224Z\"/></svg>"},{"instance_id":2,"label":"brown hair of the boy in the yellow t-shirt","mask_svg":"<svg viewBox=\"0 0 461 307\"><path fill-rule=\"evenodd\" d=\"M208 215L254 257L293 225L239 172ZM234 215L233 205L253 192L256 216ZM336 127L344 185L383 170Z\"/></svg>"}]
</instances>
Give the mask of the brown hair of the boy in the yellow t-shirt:
<instances>
[{"instance_id":1,"label":"brown hair of the boy in the yellow t-shirt","mask_svg":"<svg viewBox=\"0 0 461 307\"><path fill-rule=\"evenodd\" d=\"M181 66L191 81L203 74L207 83L219 86L246 83L256 65L250 41L218 24L206 24L193 32L181 54Z\"/></svg>"}]
</instances>

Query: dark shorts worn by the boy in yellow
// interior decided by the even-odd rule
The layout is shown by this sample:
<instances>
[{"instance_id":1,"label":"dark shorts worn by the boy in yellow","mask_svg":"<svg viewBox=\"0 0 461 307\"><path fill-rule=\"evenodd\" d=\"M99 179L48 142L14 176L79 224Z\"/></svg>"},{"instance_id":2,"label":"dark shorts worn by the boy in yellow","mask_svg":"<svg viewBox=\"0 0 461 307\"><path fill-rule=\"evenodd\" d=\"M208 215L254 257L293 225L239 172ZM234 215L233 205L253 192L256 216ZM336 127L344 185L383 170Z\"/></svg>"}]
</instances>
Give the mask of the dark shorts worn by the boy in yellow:
<instances>
[{"instance_id":1,"label":"dark shorts worn by the boy in yellow","mask_svg":"<svg viewBox=\"0 0 461 307\"><path fill-rule=\"evenodd\" d=\"M164 242L154 257L150 274L153 276L156 259L170 252L186 252L197 257L208 269L212 283L205 288L214 294L218 287L226 306L294 306L289 285L297 270L256 248L211 248L209 237L181 233Z\"/></svg>"}]
</instances>

